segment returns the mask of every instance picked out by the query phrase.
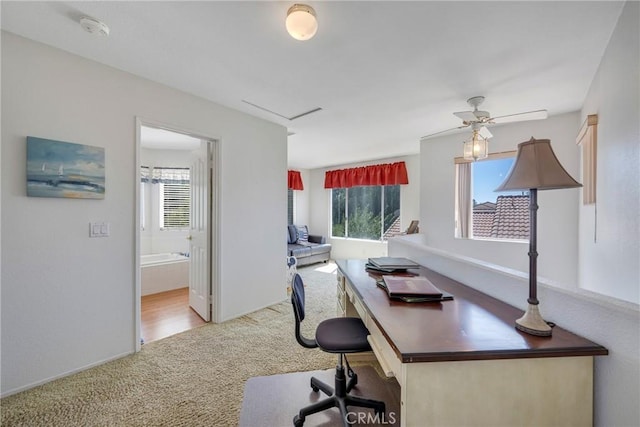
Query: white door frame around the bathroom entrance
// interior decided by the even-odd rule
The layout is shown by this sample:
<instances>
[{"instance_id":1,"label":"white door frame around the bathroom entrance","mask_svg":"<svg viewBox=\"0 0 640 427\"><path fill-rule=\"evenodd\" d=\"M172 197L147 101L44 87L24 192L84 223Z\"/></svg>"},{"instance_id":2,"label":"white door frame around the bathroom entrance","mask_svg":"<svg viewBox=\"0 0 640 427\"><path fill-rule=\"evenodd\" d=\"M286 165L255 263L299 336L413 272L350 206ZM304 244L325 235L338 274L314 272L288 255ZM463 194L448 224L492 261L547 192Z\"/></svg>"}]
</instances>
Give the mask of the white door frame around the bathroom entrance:
<instances>
[{"instance_id":1,"label":"white door frame around the bathroom entrance","mask_svg":"<svg viewBox=\"0 0 640 427\"><path fill-rule=\"evenodd\" d=\"M157 120L147 119L136 116L135 120L136 146L135 146L135 198L134 198L134 345L135 351L138 352L142 348L141 328L142 328L142 278L140 272L140 128L142 126L163 129L169 132L181 133L194 138L207 141L211 147L211 159L209 165L212 168L209 183L209 227L208 238L210 255L208 260L209 277L210 277L210 299L211 303L211 321L219 322L220 317L220 138L207 136L202 132L195 132L185 128L169 125Z\"/></svg>"}]
</instances>

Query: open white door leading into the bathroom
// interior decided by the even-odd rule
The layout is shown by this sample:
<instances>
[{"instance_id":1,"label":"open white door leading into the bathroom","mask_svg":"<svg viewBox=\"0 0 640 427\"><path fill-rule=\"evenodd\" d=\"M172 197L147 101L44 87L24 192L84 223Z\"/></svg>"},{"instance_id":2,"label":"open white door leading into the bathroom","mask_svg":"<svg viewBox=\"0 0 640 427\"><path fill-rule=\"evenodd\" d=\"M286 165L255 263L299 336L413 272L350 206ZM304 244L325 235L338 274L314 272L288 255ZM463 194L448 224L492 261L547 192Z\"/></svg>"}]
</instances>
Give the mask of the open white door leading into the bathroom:
<instances>
[{"instance_id":1,"label":"open white door leading into the bathroom","mask_svg":"<svg viewBox=\"0 0 640 427\"><path fill-rule=\"evenodd\" d=\"M191 211L189 252L189 305L205 321L211 321L211 144L202 141L191 161Z\"/></svg>"}]
</instances>

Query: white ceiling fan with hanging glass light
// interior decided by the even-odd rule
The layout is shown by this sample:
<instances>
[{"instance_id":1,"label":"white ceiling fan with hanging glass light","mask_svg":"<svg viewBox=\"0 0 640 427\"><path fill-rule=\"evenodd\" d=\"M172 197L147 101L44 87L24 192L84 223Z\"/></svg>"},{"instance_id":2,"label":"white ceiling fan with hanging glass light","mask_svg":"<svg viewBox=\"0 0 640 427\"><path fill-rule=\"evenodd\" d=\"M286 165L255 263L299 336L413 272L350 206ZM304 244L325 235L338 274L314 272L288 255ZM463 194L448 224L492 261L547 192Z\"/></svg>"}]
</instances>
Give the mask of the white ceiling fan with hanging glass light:
<instances>
[{"instance_id":1,"label":"white ceiling fan with hanging glass light","mask_svg":"<svg viewBox=\"0 0 640 427\"><path fill-rule=\"evenodd\" d=\"M462 126L432 133L430 135L423 136L420 139L431 138L432 136L440 135L441 133L450 132L456 129L464 129L469 126L471 126L474 134L477 132L477 134L482 136L484 139L489 139L493 135L491 135L491 132L487 129L487 125L526 120L541 120L547 118L547 110L535 110L524 113L508 114L506 116L491 117L491 114L488 111L478 110L478 107L482 102L484 102L484 96L474 96L467 99L467 103L473 107L473 111L459 111L457 113L453 113L454 116L462 120Z\"/></svg>"}]
</instances>

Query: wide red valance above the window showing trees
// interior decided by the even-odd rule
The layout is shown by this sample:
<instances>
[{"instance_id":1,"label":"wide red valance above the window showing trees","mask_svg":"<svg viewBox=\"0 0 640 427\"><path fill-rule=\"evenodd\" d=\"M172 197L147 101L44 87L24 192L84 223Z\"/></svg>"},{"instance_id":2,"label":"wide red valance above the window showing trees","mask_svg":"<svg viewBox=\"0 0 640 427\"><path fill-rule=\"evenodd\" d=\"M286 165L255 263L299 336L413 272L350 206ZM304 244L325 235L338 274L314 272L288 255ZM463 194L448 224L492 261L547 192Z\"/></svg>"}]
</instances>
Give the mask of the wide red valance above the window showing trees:
<instances>
[{"instance_id":1,"label":"wide red valance above the window showing trees","mask_svg":"<svg viewBox=\"0 0 640 427\"><path fill-rule=\"evenodd\" d=\"M324 188L349 188L364 185L398 185L408 183L407 167L404 162L338 169L327 171L324 175Z\"/></svg>"}]
</instances>

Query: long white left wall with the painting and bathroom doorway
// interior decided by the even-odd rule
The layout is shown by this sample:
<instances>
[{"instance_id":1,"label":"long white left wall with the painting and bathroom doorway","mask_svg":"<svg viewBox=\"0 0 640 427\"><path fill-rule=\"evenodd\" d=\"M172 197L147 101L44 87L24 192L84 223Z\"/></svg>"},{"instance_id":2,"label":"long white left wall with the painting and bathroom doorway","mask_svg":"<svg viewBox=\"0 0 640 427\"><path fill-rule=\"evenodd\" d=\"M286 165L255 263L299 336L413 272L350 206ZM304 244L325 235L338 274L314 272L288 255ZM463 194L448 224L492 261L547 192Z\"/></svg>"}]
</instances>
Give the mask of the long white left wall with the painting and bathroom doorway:
<instances>
[{"instance_id":1,"label":"long white left wall with the painting and bathroom doorway","mask_svg":"<svg viewBox=\"0 0 640 427\"><path fill-rule=\"evenodd\" d=\"M284 127L3 32L3 395L135 349L136 117L220 140L219 318L286 298ZM27 135L105 147L105 199L26 197Z\"/></svg>"}]
</instances>

